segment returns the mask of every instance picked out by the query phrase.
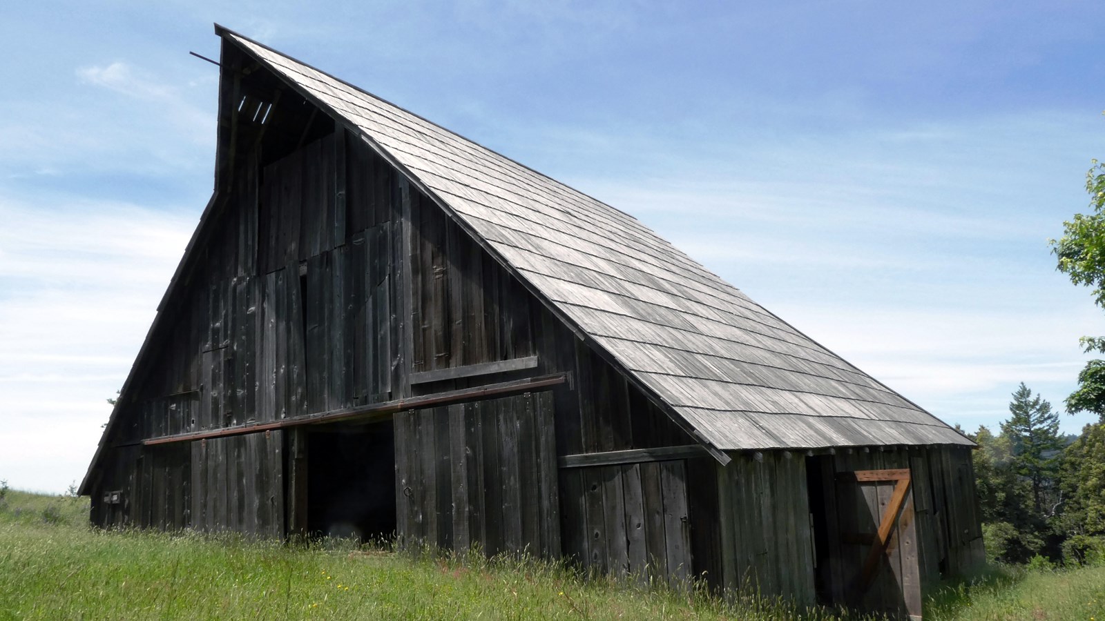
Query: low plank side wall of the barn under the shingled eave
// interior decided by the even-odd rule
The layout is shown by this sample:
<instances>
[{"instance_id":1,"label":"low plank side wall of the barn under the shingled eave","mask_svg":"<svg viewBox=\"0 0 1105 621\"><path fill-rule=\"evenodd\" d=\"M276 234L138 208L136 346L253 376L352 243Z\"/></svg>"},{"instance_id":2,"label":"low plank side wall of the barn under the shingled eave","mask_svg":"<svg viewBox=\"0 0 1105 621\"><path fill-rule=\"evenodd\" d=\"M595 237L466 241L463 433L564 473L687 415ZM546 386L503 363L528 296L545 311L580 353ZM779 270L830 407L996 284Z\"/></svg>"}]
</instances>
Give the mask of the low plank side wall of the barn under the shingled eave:
<instances>
[{"instance_id":1,"label":"low plank side wall of the barn under the shingled eave","mask_svg":"<svg viewBox=\"0 0 1105 621\"><path fill-rule=\"evenodd\" d=\"M893 490L893 484L851 490L838 475L852 471L909 469L912 480L912 511L903 513L907 517L898 522L892 546L916 558L916 573L902 557L894 557L897 565L883 562L861 608L901 609L903 580L919 580L925 591L943 579L969 575L983 561L970 449L839 449L811 457L766 451L733 457L717 466L717 549L728 589L754 588L800 603L848 601L871 546L864 534L878 525L867 507L885 507ZM821 465L808 470L812 460Z\"/></svg>"}]
</instances>

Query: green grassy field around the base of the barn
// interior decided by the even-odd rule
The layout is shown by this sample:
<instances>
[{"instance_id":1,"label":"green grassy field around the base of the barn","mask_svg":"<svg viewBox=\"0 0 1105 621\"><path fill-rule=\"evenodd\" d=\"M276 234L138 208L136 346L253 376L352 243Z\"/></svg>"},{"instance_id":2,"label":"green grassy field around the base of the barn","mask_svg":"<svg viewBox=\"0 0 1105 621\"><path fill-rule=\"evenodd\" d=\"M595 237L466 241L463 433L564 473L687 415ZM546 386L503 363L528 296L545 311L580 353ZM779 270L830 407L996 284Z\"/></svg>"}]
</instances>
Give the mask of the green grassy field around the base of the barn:
<instances>
[{"instance_id":1,"label":"green grassy field around the base of the barn","mask_svg":"<svg viewBox=\"0 0 1105 621\"><path fill-rule=\"evenodd\" d=\"M0 499L6 619L836 619L747 598L583 580L552 564L412 558L336 543L104 533L87 501ZM1101 619L1105 568L999 572L947 588L926 619ZM846 617L854 619L855 617Z\"/></svg>"}]
</instances>

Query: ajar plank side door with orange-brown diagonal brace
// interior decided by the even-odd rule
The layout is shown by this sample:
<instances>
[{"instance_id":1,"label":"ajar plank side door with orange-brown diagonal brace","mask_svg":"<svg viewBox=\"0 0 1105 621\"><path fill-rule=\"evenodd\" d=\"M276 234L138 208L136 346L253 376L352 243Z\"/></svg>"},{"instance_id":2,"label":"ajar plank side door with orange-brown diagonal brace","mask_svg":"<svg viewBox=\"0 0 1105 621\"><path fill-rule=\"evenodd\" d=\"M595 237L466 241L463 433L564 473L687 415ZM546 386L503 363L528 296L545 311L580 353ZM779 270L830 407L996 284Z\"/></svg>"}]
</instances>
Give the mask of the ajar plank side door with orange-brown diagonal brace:
<instances>
[{"instance_id":1,"label":"ajar plank side door with orange-brown diagonal brace","mask_svg":"<svg viewBox=\"0 0 1105 621\"><path fill-rule=\"evenodd\" d=\"M843 601L834 603L920 619L911 483L908 469L836 473L840 562L829 580Z\"/></svg>"}]
</instances>

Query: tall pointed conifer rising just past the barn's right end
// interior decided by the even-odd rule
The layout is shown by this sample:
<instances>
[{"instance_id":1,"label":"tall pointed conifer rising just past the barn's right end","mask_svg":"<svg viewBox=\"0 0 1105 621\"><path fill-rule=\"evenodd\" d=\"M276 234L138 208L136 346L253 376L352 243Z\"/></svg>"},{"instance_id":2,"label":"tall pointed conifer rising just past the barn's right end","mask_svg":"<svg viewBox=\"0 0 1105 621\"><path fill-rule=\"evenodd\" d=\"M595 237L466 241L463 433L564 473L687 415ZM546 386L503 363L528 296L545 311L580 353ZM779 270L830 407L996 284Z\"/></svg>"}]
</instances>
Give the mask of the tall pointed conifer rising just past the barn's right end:
<instances>
[{"instance_id":1,"label":"tall pointed conifer rising just past the barn's right end","mask_svg":"<svg viewBox=\"0 0 1105 621\"><path fill-rule=\"evenodd\" d=\"M1032 396L1024 382L1013 391L1009 403L1009 420L1001 423L1001 432L1012 446L1012 469L1032 485L1032 506L1036 516L1054 513L1044 507L1044 496L1053 488L1057 456L1063 448L1059 436L1059 413L1042 397Z\"/></svg>"}]
</instances>

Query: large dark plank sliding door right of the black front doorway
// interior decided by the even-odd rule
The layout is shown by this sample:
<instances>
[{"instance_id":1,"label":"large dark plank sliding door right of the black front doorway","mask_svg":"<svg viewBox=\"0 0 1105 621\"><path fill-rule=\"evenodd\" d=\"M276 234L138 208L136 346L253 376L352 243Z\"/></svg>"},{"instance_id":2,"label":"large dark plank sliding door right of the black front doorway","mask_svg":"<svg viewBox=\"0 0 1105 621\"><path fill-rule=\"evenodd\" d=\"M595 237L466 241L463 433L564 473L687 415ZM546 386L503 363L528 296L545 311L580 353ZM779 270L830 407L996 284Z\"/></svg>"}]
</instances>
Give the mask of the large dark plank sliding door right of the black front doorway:
<instances>
[{"instance_id":1,"label":"large dark plank sliding door right of the black front doorway","mask_svg":"<svg viewBox=\"0 0 1105 621\"><path fill-rule=\"evenodd\" d=\"M560 554L549 392L394 418L401 539L486 554Z\"/></svg>"}]
</instances>

